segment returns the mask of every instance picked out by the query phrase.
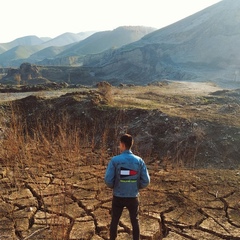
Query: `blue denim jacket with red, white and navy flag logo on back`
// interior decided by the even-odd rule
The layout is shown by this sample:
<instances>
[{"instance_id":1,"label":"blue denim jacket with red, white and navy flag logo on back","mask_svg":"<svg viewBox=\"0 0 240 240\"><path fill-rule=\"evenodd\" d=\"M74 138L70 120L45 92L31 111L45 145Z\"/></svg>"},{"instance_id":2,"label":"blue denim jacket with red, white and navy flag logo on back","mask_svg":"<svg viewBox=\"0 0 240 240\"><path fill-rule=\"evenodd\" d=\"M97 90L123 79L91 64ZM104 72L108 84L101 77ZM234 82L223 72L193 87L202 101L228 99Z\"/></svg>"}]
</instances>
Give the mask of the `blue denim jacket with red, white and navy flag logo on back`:
<instances>
[{"instance_id":1,"label":"blue denim jacket with red, white and navy flag logo on back","mask_svg":"<svg viewBox=\"0 0 240 240\"><path fill-rule=\"evenodd\" d=\"M144 161L126 150L109 162L105 183L116 197L137 197L139 189L150 183L150 177Z\"/></svg>"}]
</instances>

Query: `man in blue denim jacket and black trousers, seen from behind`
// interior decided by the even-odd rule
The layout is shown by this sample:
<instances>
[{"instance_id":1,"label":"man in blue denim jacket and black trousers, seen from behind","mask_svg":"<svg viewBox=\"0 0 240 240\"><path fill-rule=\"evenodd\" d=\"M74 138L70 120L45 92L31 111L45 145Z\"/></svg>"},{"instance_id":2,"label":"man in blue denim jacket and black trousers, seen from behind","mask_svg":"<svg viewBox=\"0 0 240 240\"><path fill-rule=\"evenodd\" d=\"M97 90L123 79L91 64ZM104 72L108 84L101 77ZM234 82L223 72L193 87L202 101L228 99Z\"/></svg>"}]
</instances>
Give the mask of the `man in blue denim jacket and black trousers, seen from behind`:
<instances>
[{"instance_id":1,"label":"man in blue denim jacket and black trousers, seen from behind","mask_svg":"<svg viewBox=\"0 0 240 240\"><path fill-rule=\"evenodd\" d=\"M138 222L139 189L150 183L150 177L144 161L131 151L133 138L125 134L120 138L120 155L111 159L105 173L105 183L113 189L112 220L110 224L110 240L117 237L117 227L123 208L129 211L133 230L133 240L139 240Z\"/></svg>"}]
</instances>

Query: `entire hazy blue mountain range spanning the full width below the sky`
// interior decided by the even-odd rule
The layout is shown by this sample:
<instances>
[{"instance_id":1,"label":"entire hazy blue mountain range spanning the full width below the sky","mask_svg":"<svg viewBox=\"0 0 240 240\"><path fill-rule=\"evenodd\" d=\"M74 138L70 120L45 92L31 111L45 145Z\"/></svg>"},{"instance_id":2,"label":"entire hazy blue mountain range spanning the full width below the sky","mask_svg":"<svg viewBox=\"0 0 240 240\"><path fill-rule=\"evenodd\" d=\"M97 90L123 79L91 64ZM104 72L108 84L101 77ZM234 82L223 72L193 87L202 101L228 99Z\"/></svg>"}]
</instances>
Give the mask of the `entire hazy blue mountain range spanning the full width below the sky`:
<instances>
[{"instance_id":1,"label":"entire hazy blue mountain range spanning the full width below the sky","mask_svg":"<svg viewBox=\"0 0 240 240\"><path fill-rule=\"evenodd\" d=\"M67 44L62 37L27 37L0 44L0 65L82 66L95 79L112 83L171 79L239 85L239 13L239 0L222 0L161 29L119 27L76 41L63 34ZM28 45L17 44L20 40Z\"/></svg>"}]
</instances>

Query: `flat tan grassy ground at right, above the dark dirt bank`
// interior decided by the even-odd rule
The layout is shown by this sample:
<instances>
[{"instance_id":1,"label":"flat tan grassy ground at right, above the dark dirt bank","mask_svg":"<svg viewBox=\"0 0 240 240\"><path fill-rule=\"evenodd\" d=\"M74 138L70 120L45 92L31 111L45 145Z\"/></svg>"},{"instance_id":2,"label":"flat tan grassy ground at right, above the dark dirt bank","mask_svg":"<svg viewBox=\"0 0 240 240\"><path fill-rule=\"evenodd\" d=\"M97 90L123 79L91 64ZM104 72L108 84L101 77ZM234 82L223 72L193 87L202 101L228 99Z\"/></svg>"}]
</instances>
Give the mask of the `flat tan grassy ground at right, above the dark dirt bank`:
<instances>
[{"instance_id":1,"label":"flat tan grassy ground at right, above the dark dirt bank","mask_svg":"<svg viewBox=\"0 0 240 240\"><path fill-rule=\"evenodd\" d=\"M115 106L160 109L170 116L240 126L239 97L211 95L220 90L211 83L173 82L160 87L117 89L113 94Z\"/></svg>"}]
</instances>

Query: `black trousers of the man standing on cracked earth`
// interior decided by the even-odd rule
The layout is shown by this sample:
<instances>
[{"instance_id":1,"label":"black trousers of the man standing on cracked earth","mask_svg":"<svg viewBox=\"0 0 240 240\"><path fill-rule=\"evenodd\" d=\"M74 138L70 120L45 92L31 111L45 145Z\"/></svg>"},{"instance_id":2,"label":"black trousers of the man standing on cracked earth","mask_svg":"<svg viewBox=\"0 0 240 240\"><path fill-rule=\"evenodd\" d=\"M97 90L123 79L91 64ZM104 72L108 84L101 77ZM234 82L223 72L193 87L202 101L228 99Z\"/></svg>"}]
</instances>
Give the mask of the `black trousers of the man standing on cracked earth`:
<instances>
[{"instance_id":1,"label":"black trousers of the man standing on cracked earth","mask_svg":"<svg viewBox=\"0 0 240 240\"><path fill-rule=\"evenodd\" d=\"M110 240L115 240L117 237L118 223L124 207L126 207L129 212L132 224L133 240L139 240L140 229L138 221L139 212L138 198L121 198L115 196L113 196L112 199L112 220L110 224Z\"/></svg>"}]
</instances>

